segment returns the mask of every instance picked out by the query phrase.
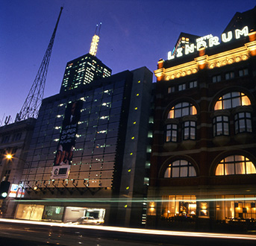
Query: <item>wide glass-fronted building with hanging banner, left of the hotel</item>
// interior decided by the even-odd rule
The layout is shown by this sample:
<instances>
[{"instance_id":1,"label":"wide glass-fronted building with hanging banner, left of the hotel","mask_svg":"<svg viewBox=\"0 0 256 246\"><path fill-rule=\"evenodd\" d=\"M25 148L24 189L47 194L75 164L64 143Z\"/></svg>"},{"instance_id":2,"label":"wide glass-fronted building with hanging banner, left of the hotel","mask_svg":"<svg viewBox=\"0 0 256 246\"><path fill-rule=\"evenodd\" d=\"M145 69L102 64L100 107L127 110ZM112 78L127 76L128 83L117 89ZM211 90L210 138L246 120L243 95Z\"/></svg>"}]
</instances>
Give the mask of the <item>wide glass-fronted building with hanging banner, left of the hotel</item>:
<instances>
[{"instance_id":1,"label":"wide glass-fronted building with hanging banner, left of the hotel","mask_svg":"<svg viewBox=\"0 0 256 246\"><path fill-rule=\"evenodd\" d=\"M60 94L40 107L16 218L67 222L90 216L105 224L141 225L149 183L152 72L145 67L110 77L102 72L107 78L82 79L76 88L79 70L77 76L74 71L67 66ZM140 203L133 204L134 198Z\"/></svg>"}]
</instances>

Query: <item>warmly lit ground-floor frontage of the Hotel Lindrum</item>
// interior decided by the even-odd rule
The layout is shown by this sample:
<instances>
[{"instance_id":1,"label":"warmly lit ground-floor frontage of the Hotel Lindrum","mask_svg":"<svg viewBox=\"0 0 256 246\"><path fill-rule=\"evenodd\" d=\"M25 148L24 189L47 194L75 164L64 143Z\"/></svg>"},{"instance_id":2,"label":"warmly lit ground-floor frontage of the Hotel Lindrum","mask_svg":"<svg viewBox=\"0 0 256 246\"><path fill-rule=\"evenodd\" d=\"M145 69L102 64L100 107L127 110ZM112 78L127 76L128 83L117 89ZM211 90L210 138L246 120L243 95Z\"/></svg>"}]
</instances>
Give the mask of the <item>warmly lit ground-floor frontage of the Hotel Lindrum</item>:
<instances>
[{"instance_id":1,"label":"warmly lit ground-floor frontage of the Hotel Lindrum","mask_svg":"<svg viewBox=\"0 0 256 246\"><path fill-rule=\"evenodd\" d=\"M150 227L237 233L256 230L256 195L164 195L159 205L154 213L149 206Z\"/></svg>"}]
</instances>

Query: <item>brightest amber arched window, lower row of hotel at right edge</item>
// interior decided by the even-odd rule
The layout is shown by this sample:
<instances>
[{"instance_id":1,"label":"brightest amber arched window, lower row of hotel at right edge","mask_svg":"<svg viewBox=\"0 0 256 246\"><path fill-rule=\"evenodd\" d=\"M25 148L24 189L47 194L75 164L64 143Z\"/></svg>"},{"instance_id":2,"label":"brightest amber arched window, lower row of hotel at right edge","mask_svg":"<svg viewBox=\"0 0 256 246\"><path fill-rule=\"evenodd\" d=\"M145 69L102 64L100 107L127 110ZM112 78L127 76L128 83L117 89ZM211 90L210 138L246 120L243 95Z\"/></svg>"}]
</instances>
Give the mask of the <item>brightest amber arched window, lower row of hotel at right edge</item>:
<instances>
[{"instance_id":1,"label":"brightest amber arched window, lower row of hotel at right edge","mask_svg":"<svg viewBox=\"0 0 256 246\"><path fill-rule=\"evenodd\" d=\"M216 167L216 176L234 174L256 174L255 165L247 157L231 155L221 160Z\"/></svg>"}]
</instances>

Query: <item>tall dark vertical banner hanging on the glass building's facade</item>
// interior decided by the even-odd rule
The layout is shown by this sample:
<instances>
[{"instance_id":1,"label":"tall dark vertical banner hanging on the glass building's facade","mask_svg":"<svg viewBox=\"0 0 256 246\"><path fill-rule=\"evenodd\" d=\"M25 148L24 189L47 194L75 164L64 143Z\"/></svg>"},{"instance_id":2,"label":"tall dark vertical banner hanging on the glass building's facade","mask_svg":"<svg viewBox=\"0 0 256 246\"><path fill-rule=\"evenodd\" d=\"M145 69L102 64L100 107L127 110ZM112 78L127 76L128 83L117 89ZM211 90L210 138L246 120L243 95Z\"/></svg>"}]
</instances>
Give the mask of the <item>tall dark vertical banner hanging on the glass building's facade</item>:
<instances>
[{"instance_id":1,"label":"tall dark vertical banner hanging on the glass building's facade","mask_svg":"<svg viewBox=\"0 0 256 246\"><path fill-rule=\"evenodd\" d=\"M81 100L73 101L66 107L51 178L67 178L69 176L82 103Z\"/></svg>"}]
</instances>

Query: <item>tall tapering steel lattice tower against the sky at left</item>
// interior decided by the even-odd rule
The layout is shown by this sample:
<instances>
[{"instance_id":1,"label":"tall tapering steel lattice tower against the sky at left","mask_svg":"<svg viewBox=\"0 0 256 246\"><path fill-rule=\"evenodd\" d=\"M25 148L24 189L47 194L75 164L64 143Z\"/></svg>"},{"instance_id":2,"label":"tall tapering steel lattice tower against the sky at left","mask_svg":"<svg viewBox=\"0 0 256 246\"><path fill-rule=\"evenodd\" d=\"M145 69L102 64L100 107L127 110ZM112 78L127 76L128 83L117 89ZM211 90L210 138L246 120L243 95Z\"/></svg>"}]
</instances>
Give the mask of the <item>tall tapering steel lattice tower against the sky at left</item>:
<instances>
[{"instance_id":1,"label":"tall tapering steel lattice tower against the sky at left","mask_svg":"<svg viewBox=\"0 0 256 246\"><path fill-rule=\"evenodd\" d=\"M40 109L41 102L43 100L43 92L46 85L46 75L48 72L49 61L51 57L52 46L54 43L55 34L57 31L57 25L60 21L60 15L63 7L60 7L60 14L57 18L57 23L55 25L53 34L51 35L51 40L46 50L46 54L43 57L43 61L38 69L37 76L31 86L28 96L22 106L22 109L17 113L15 122L19 122L28 118L37 118L38 111Z\"/></svg>"}]
</instances>

